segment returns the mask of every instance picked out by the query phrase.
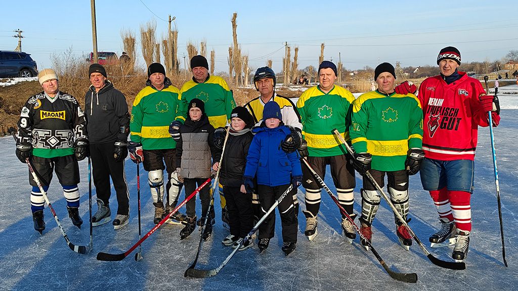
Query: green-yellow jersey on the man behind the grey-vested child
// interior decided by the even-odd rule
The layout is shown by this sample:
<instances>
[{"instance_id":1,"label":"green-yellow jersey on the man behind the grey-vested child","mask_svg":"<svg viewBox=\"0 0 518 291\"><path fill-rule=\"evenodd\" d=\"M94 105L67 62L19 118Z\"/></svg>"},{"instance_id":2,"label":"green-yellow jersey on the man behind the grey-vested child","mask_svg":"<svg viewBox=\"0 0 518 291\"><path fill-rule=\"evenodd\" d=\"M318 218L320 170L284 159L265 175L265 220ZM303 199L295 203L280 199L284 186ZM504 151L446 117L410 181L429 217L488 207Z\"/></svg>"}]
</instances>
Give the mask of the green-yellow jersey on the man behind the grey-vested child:
<instances>
[{"instance_id":1,"label":"green-yellow jersey on the man behind the grey-vested child","mask_svg":"<svg viewBox=\"0 0 518 291\"><path fill-rule=\"evenodd\" d=\"M180 90L176 120L185 121L187 105L194 98L205 103L205 114L214 128L224 127L230 122L230 115L236 107L236 101L232 91L228 89L227 83L221 77L210 76L203 83L196 83L194 80L185 82Z\"/></svg>"}]
</instances>

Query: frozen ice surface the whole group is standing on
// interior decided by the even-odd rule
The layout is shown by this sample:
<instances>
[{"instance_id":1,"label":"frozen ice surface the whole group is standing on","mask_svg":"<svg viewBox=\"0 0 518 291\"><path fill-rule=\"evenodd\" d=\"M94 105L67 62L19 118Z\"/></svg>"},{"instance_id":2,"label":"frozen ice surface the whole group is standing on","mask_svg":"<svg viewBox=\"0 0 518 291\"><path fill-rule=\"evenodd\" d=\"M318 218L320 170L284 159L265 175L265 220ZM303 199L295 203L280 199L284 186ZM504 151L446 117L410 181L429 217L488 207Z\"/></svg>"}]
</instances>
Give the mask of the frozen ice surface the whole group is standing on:
<instances>
[{"instance_id":1,"label":"frozen ice surface the whole group is standing on","mask_svg":"<svg viewBox=\"0 0 518 291\"><path fill-rule=\"evenodd\" d=\"M514 86L509 90L518 91ZM500 90L503 91L504 88ZM502 92L503 93L503 92ZM259 254L254 247L238 252L221 272L212 278L184 278L197 250L199 232L180 241L181 227L165 225L142 244L140 261L134 253L120 262L96 260L98 252L122 253L138 241L136 166L126 160L126 175L131 192L130 224L114 231L111 224L94 228L94 250L86 255L72 252L65 244L49 209L45 210L47 229L40 236L33 229L30 211L31 187L27 167L15 156L11 137L0 139L4 163L0 167L0 289L2 290L514 290L518 284L518 167L515 144L518 138L518 94L500 94L501 123L495 128L505 243L509 268L503 266L498 222L493 160L488 128L479 130L476 157L475 192L472 196L473 231L467 269L453 271L430 263L414 242L403 250L395 235L394 216L382 201L373 223L373 245L385 262L399 272L415 272L415 284L394 281L386 274L372 253L356 239L348 244L341 236L340 215L335 203L324 192L319 214L319 233L313 241L304 236L305 219L299 215L297 249L285 257L281 251L280 220L276 237ZM66 201L54 177L48 196L60 217L68 237L75 244L87 245L88 163L80 162L81 230L73 226L66 211ZM142 234L154 226L153 205L147 186L147 173L141 172ZM355 189L355 211L360 210L360 177ZM325 182L334 191L329 176ZM113 190L112 190L112 193ZM95 192L94 192L95 195ZM183 197L183 193L182 193ZM304 189L299 188L301 210ZM197 198L198 199L198 198ZM95 196L94 196L95 201ZM199 199L198 199L199 201ZM94 202L95 203L95 202ZM198 211L199 211L199 202ZM115 195L110 200L112 218L116 212ZM221 226L219 196L216 198L217 224L212 238L204 243L198 268L217 267L231 252L221 240L228 235ZM410 227L425 243L429 252L451 260L452 249L431 249L428 236L438 227L437 213L429 194L422 190L418 176L410 179ZM96 206L93 207L94 211ZM182 209L182 212L185 210ZM198 214L199 216L199 214ZM356 220L357 222L357 220Z\"/></svg>"}]
</instances>

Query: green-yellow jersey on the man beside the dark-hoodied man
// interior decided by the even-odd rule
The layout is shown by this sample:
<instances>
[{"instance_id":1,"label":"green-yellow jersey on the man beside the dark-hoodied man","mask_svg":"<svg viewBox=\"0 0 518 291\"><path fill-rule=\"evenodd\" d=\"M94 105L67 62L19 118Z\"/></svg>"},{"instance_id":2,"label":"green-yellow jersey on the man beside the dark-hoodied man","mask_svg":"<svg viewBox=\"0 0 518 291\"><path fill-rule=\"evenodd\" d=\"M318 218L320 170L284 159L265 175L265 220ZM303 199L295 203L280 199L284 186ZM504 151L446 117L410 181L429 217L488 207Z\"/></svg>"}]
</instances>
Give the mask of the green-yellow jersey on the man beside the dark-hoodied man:
<instances>
[{"instance_id":1,"label":"green-yellow jersey on the man beside the dark-hoodied man","mask_svg":"<svg viewBox=\"0 0 518 291\"><path fill-rule=\"evenodd\" d=\"M172 85L162 91L152 86L142 89L133 102L131 140L142 143L144 150L175 149L176 141L169 135L169 124L175 120L179 94Z\"/></svg>"}]
</instances>

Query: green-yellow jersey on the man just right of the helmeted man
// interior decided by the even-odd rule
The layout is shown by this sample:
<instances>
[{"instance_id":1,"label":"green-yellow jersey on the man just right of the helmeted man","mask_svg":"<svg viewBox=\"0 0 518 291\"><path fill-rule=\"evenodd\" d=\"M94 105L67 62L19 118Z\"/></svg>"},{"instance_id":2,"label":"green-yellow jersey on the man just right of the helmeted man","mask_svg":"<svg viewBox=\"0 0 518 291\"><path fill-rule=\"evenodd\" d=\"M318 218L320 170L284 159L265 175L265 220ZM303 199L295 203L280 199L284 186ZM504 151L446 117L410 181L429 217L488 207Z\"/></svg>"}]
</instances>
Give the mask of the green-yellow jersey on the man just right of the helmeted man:
<instances>
[{"instance_id":1,"label":"green-yellow jersey on the man just right of the helmeted man","mask_svg":"<svg viewBox=\"0 0 518 291\"><path fill-rule=\"evenodd\" d=\"M309 156L336 156L343 154L332 130L349 139L353 94L340 86L324 93L319 86L306 90L297 101L303 125L303 135L308 142Z\"/></svg>"}]
</instances>

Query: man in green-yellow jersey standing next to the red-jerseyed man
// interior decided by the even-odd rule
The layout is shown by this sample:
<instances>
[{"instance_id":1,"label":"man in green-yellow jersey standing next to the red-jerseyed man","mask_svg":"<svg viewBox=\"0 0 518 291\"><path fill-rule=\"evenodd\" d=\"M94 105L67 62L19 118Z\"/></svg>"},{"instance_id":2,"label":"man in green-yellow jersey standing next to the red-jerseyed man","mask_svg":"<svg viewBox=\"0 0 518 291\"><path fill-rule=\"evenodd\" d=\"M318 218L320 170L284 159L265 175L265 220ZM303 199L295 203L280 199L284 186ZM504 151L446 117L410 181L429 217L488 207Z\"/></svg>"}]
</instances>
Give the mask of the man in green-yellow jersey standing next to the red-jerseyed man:
<instances>
[{"instance_id":1,"label":"man in green-yellow jersey standing next to the red-jerseyed man","mask_svg":"<svg viewBox=\"0 0 518 291\"><path fill-rule=\"evenodd\" d=\"M365 174L369 171L383 187L385 173L391 201L407 220L408 176L419 171L424 158L423 110L413 94L394 91L394 66L382 63L375 69L378 90L359 96L353 102L350 134L355 149L354 168ZM362 234L372 239L371 225L380 205L380 194L364 176L362 189ZM409 250L412 238L405 225L396 218L397 236L401 246ZM365 246L367 243L362 241ZM367 249L367 247L366 247Z\"/></svg>"}]
</instances>

